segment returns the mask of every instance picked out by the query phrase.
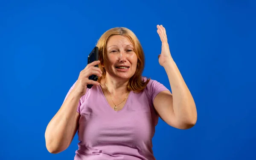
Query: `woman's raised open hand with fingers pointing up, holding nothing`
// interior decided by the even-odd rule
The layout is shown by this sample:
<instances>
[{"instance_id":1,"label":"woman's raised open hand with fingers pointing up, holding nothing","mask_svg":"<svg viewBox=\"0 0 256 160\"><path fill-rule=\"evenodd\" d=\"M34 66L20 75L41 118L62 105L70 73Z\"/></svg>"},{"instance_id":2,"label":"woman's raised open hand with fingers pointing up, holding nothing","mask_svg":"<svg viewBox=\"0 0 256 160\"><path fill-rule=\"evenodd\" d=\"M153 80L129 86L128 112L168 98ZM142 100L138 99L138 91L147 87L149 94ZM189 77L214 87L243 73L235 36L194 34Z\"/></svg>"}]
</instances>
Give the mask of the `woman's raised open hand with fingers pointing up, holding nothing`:
<instances>
[{"instance_id":1,"label":"woman's raised open hand with fingers pointing up, holding nothing","mask_svg":"<svg viewBox=\"0 0 256 160\"><path fill-rule=\"evenodd\" d=\"M164 67L168 61L172 60L172 56L167 41L166 29L163 27L163 25L157 25L157 33L162 41L162 51L161 54L158 55L158 61L159 64Z\"/></svg>"}]
</instances>

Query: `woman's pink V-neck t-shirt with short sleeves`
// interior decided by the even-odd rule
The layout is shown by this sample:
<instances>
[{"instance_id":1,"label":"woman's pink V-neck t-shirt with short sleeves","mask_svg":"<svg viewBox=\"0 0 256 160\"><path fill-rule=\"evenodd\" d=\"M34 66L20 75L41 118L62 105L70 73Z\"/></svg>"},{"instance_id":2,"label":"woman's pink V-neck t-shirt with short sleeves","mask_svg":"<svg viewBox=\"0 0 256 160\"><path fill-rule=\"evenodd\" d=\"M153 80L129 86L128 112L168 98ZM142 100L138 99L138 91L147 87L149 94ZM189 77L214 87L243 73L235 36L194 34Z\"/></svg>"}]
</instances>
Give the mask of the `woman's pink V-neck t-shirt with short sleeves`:
<instances>
[{"instance_id":1,"label":"woman's pink V-neck t-shirt with short sleeves","mask_svg":"<svg viewBox=\"0 0 256 160\"><path fill-rule=\"evenodd\" d=\"M143 92L130 92L121 111L114 111L100 86L87 89L77 108L80 142L74 160L155 160L152 138L158 115L153 101L164 90L150 80Z\"/></svg>"}]
</instances>

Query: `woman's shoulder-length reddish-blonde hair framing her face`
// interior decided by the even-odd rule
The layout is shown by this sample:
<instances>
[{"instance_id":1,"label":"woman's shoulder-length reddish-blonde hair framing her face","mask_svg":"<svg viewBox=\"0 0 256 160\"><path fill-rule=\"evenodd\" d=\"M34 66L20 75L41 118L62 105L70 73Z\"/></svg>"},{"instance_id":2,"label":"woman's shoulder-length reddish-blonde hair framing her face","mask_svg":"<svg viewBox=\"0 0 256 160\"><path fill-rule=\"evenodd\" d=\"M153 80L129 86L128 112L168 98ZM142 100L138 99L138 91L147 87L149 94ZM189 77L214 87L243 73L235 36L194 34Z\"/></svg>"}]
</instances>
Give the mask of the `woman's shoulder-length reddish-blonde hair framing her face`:
<instances>
[{"instance_id":1,"label":"woman's shoulder-length reddish-blonde hair framing her face","mask_svg":"<svg viewBox=\"0 0 256 160\"><path fill-rule=\"evenodd\" d=\"M116 28L109 29L108 31L103 33L103 35L99 38L96 46L99 47L99 61L100 61L99 68L102 70L102 77L99 77L98 81L100 81L102 78L105 78L106 76L106 70L104 67L102 67L102 65L106 60L105 54L107 52L106 46L107 46L108 40L113 35L125 36L126 38L128 38L128 40L131 41L131 43L134 46L134 52L138 57L137 69L134 75L129 80L127 89L134 92L140 92L146 87L146 85L148 84L148 81L150 80L150 79L147 79L146 81L144 81L142 78L142 73L145 66L145 55L137 36L130 29L127 29L125 27L116 27Z\"/></svg>"}]
</instances>

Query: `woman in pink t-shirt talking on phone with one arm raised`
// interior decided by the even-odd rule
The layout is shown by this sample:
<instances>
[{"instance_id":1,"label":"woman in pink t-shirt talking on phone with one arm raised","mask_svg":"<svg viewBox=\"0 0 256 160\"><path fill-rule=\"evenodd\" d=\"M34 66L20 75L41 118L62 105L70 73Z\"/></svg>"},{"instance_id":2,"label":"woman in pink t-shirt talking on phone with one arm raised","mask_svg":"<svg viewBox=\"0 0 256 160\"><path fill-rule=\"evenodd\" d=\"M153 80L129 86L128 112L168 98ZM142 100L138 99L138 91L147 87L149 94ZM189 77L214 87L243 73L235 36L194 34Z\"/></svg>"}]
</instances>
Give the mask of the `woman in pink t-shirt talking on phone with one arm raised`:
<instances>
[{"instance_id":1,"label":"woman in pink t-shirt talking on phone with one arm raised","mask_svg":"<svg viewBox=\"0 0 256 160\"><path fill-rule=\"evenodd\" d=\"M172 93L142 77L144 53L136 35L126 28L110 29L98 41L99 61L81 71L47 126L49 152L64 151L78 131L75 160L154 160L151 140L158 116L179 129L195 125L195 102L172 59L166 30L157 25L157 33L162 41L159 63ZM98 81L88 80L92 74ZM93 87L87 89L87 84Z\"/></svg>"}]
</instances>

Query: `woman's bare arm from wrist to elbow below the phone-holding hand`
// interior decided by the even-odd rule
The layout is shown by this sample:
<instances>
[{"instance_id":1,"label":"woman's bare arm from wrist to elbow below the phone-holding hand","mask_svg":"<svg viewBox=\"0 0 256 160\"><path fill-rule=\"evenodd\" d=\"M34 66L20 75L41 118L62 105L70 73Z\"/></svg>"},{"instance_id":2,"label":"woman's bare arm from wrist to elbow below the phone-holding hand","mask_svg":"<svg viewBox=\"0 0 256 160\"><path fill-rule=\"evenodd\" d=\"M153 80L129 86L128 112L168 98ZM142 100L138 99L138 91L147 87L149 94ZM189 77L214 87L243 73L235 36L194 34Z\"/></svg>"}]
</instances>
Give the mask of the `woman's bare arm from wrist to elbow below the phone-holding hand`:
<instances>
[{"instance_id":1,"label":"woman's bare arm from wrist to elbow below the phone-holding hand","mask_svg":"<svg viewBox=\"0 0 256 160\"><path fill-rule=\"evenodd\" d=\"M45 142L50 153L59 153L68 148L78 129L80 114L77 112L81 96L70 92L67 99L47 125Z\"/></svg>"}]
</instances>

